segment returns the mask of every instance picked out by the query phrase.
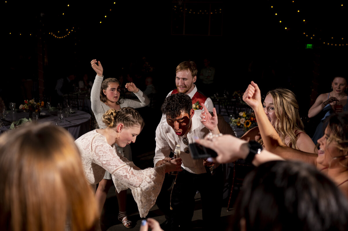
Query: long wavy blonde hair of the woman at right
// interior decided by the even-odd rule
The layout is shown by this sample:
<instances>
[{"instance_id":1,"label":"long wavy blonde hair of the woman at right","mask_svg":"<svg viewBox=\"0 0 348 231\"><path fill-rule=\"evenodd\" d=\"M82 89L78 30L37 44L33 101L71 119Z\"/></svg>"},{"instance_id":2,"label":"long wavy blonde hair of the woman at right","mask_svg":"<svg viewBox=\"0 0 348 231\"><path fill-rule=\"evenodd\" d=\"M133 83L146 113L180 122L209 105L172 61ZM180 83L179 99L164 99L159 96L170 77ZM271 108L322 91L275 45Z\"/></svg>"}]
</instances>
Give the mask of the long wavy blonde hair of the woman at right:
<instances>
[{"instance_id":1,"label":"long wavy blonde hair of the woman at right","mask_svg":"<svg viewBox=\"0 0 348 231\"><path fill-rule=\"evenodd\" d=\"M290 138L289 147L298 149L297 137L294 131L304 132L303 122L300 118L299 104L295 94L284 88L277 88L267 92L273 99L275 114L275 130L278 132L280 139L285 143L285 138ZM267 96L266 95L266 96ZM263 145L262 139L259 143Z\"/></svg>"}]
</instances>

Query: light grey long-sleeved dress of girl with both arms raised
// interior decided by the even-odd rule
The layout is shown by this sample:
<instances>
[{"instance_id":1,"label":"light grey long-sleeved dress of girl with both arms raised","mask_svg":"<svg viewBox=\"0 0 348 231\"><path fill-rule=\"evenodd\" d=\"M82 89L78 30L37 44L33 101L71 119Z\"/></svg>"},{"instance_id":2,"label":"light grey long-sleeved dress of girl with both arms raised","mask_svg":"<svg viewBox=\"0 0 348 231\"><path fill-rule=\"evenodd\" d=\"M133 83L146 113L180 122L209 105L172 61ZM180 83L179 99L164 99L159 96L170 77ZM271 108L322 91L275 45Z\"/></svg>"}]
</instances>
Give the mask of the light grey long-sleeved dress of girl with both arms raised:
<instances>
[{"instance_id":1,"label":"light grey long-sleeved dress of girl with both arms raised","mask_svg":"<svg viewBox=\"0 0 348 231\"><path fill-rule=\"evenodd\" d=\"M98 123L99 128L106 128L106 125L103 123L103 114L107 110L109 110L110 107L100 101L100 88L102 86L102 82L103 82L103 76L96 75L93 86L92 86L92 90L90 91L90 101L91 101L92 111L94 113L94 116ZM120 108L122 107L140 108L140 107L145 107L150 103L150 99L140 89L137 93L134 93L134 94L138 97L138 100L121 99L122 102L120 104ZM132 160L132 150L130 149L129 145L127 145L124 148L120 148L117 145L116 147L119 153L125 156L128 160ZM105 172L104 179L108 179L108 180L112 179L111 174L108 171Z\"/></svg>"}]
</instances>

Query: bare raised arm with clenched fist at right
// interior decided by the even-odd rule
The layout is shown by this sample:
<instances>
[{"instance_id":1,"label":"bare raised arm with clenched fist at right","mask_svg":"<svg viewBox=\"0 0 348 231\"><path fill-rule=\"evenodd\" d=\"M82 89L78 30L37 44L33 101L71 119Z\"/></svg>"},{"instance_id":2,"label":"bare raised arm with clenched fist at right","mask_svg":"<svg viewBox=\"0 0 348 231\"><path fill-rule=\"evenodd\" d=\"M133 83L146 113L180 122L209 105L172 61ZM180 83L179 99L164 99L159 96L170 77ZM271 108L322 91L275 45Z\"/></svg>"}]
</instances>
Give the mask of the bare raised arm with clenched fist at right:
<instances>
[{"instance_id":1,"label":"bare raised arm with clenched fist at right","mask_svg":"<svg viewBox=\"0 0 348 231\"><path fill-rule=\"evenodd\" d=\"M284 159L298 159L307 163L316 164L316 154L289 148L282 142L278 133L271 125L263 111L261 92L258 85L253 81L244 92L243 100L255 112L263 144L268 151L277 154Z\"/></svg>"}]
</instances>

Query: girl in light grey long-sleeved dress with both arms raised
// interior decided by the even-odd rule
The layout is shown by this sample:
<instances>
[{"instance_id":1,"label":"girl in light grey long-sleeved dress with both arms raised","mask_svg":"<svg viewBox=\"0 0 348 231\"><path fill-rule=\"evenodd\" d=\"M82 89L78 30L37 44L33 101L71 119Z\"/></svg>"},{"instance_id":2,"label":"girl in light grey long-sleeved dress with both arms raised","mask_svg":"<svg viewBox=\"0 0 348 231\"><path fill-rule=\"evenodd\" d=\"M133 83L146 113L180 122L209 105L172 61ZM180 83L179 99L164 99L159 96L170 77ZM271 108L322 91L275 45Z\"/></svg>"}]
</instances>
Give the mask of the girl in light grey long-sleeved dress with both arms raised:
<instances>
[{"instance_id":1,"label":"girl in light grey long-sleeved dress with both arms raised","mask_svg":"<svg viewBox=\"0 0 348 231\"><path fill-rule=\"evenodd\" d=\"M133 92L138 99L119 99L121 90L120 82L114 78L107 78L103 81L103 66L100 61L93 59L90 64L97 73L92 91L90 92L90 99L92 103L92 111L95 115L99 128L106 128L106 125L103 123L103 114L110 108L116 110L122 107L140 108L149 104L149 98L139 88L137 88L134 83L126 83L125 87L129 92ZM129 145L123 148L116 145L116 148L117 151L125 156L128 160L132 160L132 150L130 149ZM115 187L118 188L116 185L118 182L114 181L114 183ZM108 194L111 185L111 174L106 171L104 179L99 182L98 188L95 192L100 213L102 212L106 195ZM124 226L129 228L132 226L132 222L128 220L126 212L127 191L123 190L117 192L116 190L116 196L119 207L118 220L121 221Z\"/></svg>"}]
</instances>

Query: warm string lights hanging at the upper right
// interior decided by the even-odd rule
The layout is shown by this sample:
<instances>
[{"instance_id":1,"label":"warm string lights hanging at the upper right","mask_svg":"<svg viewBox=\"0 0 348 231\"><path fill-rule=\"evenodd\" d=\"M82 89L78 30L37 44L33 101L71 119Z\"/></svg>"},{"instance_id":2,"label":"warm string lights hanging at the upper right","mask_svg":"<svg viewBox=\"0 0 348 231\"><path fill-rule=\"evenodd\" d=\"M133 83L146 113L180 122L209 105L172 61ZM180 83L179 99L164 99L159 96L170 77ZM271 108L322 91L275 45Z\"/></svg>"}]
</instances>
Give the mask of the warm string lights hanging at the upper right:
<instances>
[{"instance_id":1,"label":"warm string lights hanging at the upper right","mask_svg":"<svg viewBox=\"0 0 348 231\"><path fill-rule=\"evenodd\" d=\"M299 0L296 0L296 1L299 1ZM295 0L288 0L288 2L290 4L294 4ZM343 4L337 5L337 8L342 9L342 7L343 7ZM270 9L272 10L272 14L277 18L277 21L279 22L279 24L282 24L283 29L289 30L290 25L287 24L288 22L286 22L286 19L282 18L282 16L285 14L283 11L284 9L277 7L277 3L271 4ZM290 15L292 16L295 16L296 14L298 15L298 17L296 18L296 23L306 24L307 20L309 20L309 19L306 19L306 17L302 16L303 14L300 7L298 7L298 9L296 9L295 7L291 7L291 8L289 7L288 9L292 9L293 11L290 13ZM314 39L321 40L322 42L320 43L325 44L327 46L348 46L348 43L344 43L345 41L344 36L339 36L339 38L337 38L337 36L327 35L325 38L322 38L322 36L316 36L315 33L306 33L306 32L303 32L303 36L305 36L309 40L314 40Z\"/></svg>"}]
</instances>

